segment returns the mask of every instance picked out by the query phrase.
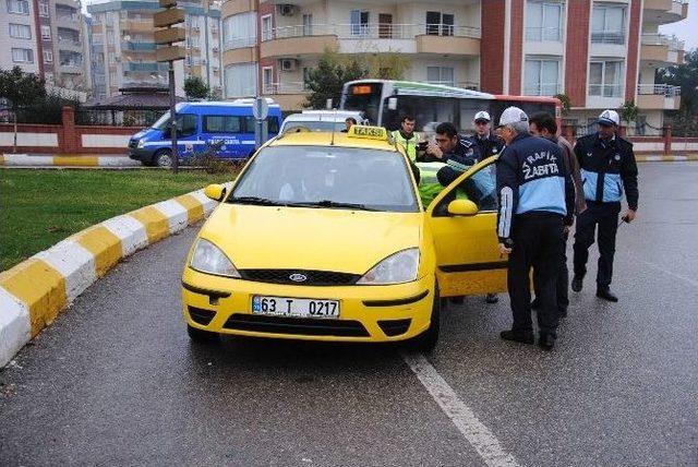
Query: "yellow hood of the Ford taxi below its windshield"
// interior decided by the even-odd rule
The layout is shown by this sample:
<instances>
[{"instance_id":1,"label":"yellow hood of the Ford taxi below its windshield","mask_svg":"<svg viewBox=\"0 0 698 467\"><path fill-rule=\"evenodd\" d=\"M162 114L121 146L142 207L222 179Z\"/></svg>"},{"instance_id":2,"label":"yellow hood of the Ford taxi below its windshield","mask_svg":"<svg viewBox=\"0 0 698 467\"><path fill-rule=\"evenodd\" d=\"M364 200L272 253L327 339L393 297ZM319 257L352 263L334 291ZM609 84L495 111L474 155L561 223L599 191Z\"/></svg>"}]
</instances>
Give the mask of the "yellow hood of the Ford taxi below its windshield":
<instances>
[{"instance_id":1,"label":"yellow hood of the Ford taxi below its windshield","mask_svg":"<svg viewBox=\"0 0 698 467\"><path fill-rule=\"evenodd\" d=\"M298 268L364 274L420 244L422 213L221 204L200 236L238 270Z\"/></svg>"}]
</instances>

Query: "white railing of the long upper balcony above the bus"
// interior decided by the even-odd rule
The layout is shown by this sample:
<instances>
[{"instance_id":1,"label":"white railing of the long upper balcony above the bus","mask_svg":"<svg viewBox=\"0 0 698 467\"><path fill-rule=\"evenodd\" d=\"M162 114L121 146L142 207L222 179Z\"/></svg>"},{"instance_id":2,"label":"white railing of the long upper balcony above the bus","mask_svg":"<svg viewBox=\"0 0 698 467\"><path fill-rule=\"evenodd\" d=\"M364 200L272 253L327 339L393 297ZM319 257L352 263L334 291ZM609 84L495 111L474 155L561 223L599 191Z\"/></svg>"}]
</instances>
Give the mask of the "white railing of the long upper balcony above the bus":
<instances>
[{"instance_id":1,"label":"white railing of the long upper balcony above the bus","mask_svg":"<svg viewBox=\"0 0 698 467\"><path fill-rule=\"evenodd\" d=\"M340 39L413 39L416 36L480 38L480 29L449 24L299 24L262 32L262 40L303 36L337 36Z\"/></svg>"}]
</instances>

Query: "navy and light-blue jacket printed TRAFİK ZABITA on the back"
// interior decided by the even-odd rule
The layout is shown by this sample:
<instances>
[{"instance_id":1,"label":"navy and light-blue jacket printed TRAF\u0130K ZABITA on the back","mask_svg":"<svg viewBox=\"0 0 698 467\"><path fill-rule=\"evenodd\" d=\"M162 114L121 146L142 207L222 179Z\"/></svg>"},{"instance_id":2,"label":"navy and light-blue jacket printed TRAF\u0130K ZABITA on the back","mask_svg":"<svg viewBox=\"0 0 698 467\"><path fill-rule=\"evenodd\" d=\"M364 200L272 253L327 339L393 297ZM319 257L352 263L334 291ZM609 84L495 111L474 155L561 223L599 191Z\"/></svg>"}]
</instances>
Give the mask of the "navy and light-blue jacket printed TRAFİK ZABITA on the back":
<instances>
[{"instance_id":1,"label":"navy and light-blue jacket printed TRAF\u0130K ZABITA on the back","mask_svg":"<svg viewBox=\"0 0 698 467\"><path fill-rule=\"evenodd\" d=\"M510 244L512 225L527 213L559 214L573 224L575 185L557 144L518 134L497 160L497 237Z\"/></svg>"}]
</instances>

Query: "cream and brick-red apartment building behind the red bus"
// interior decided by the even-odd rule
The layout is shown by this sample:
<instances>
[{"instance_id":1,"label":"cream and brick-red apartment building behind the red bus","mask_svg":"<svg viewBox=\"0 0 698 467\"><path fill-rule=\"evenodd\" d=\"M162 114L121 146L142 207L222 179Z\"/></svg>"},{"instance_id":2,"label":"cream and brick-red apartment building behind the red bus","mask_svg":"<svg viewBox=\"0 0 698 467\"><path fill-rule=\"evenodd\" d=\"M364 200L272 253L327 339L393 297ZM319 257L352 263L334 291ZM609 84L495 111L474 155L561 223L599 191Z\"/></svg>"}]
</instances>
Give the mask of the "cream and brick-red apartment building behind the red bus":
<instances>
[{"instance_id":1,"label":"cream and brick-red apartment building behind the red bus","mask_svg":"<svg viewBox=\"0 0 698 467\"><path fill-rule=\"evenodd\" d=\"M683 60L683 44L658 28L686 17L686 0L228 0L221 12L227 98L261 93L298 109L329 47L399 52L408 80L565 93L573 124L635 100L639 121L661 125L681 99L654 71Z\"/></svg>"}]
</instances>

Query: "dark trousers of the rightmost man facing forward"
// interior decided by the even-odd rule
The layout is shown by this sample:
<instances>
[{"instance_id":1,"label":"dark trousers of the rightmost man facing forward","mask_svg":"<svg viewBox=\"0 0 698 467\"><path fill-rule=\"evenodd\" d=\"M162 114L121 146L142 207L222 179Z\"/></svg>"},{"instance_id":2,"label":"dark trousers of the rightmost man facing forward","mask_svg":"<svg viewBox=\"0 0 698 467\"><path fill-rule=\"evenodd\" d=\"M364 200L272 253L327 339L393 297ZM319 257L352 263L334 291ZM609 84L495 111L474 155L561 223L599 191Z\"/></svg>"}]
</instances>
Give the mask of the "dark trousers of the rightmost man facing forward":
<instances>
[{"instance_id":1,"label":"dark trousers of the rightmost man facing forward","mask_svg":"<svg viewBox=\"0 0 698 467\"><path fill-rule=\"evenodd\" d=\"M621 203L595 203L587 201L587 211L577 216L575 231L575 276L587 274L589 247L593 244L593 237L599 226L599 268L597 272L597 287L606 289L613 278L613 256L615 254L615 235L618 229L618 213Z\"/></svg>"}]
</instances>

